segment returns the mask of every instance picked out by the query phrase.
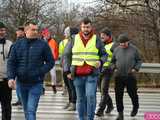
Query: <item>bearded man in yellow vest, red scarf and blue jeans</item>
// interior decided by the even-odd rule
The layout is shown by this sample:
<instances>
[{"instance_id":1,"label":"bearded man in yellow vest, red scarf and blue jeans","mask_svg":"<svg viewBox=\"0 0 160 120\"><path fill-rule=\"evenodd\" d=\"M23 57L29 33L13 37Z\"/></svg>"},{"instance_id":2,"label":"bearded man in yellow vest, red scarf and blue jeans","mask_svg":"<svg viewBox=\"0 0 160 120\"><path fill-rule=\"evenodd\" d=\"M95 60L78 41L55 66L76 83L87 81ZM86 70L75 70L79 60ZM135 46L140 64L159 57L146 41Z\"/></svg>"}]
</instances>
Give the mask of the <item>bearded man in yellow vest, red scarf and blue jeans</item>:
<instances>
[{"instance_id":1,"label":"bearded man in yellow vest, red scarf and blue jeans","mask_svg":"<svg viewBox=\"0 0 160 120\"><path fill-rule=\"evenodd\" d=\"M89 18L81 21L80 28L65 48L64 71L76 88L79 120L93 120L99 68L107 60L107 53Z\"/></svg>"}]
</instances>

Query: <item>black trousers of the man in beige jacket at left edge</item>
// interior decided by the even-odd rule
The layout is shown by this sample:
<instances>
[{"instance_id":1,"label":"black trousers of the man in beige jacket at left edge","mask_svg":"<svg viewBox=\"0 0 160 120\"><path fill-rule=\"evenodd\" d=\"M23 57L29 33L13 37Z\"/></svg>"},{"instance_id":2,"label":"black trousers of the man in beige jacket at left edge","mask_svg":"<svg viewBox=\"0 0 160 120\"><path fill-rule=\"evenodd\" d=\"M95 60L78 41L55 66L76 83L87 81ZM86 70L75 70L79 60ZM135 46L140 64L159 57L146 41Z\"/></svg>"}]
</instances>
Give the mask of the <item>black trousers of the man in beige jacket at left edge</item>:
<instances>
[{"instance_id":1,"label":"black trousers of the man in beige jacket at left edge","mask_svg":"<svg viewBox=\"0 0 160 120\"><path fill-rule=\"evenodd\" d=\"M11 120L12 90L8 87L8 81L0 82L0 102L2 109L2 120Z\"/></svg>"}]
</instances>

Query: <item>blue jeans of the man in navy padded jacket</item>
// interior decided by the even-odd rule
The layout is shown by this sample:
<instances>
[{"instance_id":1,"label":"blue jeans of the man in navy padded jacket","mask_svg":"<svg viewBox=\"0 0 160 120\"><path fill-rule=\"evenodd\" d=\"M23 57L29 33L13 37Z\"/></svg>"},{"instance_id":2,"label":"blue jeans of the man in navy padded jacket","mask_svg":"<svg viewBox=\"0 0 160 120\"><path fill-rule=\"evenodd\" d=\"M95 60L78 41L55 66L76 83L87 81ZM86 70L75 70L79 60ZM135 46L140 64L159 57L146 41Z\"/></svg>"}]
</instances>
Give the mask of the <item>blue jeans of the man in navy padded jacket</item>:
<instances>
[{"instance_id":1,"label":"blue jeans of the man in navy padded jacket","mask_svg":"<svg viewBox=\"0 0 160 120\"><path fill-rule=\"evenodd\" d=\"M36 120L36 111L42 94L43 84L22 84L18 82L17 87L19 88L25 120Z\"/></svg>"}]
</instances>

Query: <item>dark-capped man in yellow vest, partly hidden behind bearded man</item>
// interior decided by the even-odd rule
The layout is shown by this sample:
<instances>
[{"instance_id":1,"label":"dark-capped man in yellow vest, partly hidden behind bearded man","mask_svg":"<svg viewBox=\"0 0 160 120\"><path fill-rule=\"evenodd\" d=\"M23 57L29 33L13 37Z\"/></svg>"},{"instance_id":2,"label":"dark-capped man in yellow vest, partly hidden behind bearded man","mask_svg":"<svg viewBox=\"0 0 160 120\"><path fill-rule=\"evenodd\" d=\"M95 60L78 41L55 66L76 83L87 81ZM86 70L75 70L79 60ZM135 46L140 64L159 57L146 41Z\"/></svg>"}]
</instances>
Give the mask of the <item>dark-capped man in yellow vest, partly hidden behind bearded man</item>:
<instances>
[{"instance_id":1,"label":"dark-capped man in yellow vest, partly hidden behind bearded man","mask_svg":"<svg viewBox=\"0 0 160 120\"><path fill-rule=\"evenodd\" d=\"M109 95L109 83L112 77L112 69L111 69L111 59L112 59L112 52L113 52L113 40L112 40L112 32L109 30L109 28L104 28L100 32L101 40L105 44L105 49L108 54L108 59L107 62L104 63L102 70L101 70L101 75L99 79L99 88L101 91L101 100L99 103L99 108L96 112L97 116L103 116L103 112L107 107L105 113L110 113L114 107L113 107L113 102L112 99Z\"/></svg>"}]
</instances>

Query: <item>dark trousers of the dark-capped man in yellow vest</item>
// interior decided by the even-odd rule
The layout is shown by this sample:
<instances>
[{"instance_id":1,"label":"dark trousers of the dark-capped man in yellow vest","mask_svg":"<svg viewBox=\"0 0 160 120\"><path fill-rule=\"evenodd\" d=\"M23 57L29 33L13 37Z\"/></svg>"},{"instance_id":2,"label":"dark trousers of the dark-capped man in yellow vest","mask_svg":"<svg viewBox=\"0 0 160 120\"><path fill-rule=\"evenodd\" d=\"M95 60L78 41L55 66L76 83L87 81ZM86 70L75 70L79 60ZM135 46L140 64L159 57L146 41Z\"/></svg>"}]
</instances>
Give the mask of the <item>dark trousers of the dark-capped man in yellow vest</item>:
<instances>
[{"instance_id":1,"label":"dark trousers of the dark-capped man in yellow vest","mask_svg":"<svg viewBox=\"0 0 160 120\"><path fill-rule=\"evenodd\" d=\"M113 107L112 99L109 95L109 83L112 77L112 72L107 70L99 77L99 88L101 92L101 100L99 103L99 110L104 111L106 106Z\"/></svg>"}]
</instances>

